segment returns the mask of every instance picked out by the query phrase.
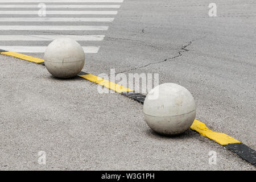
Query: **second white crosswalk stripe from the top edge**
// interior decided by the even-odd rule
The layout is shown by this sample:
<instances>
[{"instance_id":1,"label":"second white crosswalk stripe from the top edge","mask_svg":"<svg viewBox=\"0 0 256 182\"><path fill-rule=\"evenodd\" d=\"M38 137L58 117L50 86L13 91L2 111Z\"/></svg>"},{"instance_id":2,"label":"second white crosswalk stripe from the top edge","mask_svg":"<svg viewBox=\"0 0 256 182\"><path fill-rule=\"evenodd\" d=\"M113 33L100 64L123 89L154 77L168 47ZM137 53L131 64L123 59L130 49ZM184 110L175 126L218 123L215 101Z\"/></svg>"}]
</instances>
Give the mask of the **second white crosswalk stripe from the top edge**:
<instances>
[{"instance_id":1,"label":"second white crosswalk stripe from the top edge","mask_svg":"<svg viewBox=\"0 0 256 182\"><path fill-rule=\"evenodd\" d=\"M1 2L1 1L0 1ZM120 5L46 5L48 8L113 8L118 9ZM38 5L1 5L0 8L39 8Z\"/></svg>"}]
</instances>

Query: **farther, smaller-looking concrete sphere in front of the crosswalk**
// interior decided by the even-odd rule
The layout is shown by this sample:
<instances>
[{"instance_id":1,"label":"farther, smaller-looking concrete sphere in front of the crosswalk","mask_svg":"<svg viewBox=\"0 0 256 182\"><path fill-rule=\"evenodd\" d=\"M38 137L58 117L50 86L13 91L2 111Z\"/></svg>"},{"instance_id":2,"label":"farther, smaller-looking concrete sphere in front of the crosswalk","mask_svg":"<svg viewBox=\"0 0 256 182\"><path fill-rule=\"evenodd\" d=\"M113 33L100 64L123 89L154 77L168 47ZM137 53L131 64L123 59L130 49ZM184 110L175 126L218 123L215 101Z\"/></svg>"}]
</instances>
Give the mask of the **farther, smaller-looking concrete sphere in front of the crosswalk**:
<instances>
[{"instance_id":1,"label":"farther, smaller-looking concrete sphere in front of the crosswalk","mask_svg":"<svg viewBox=\"0 0 256 182\"><path fill-rule=\"evenodd\" d=\"M76 76L84 67L84 50L75 40L60 38L53 40L44 53L47 70L57 78Z\"/></svg>"}]
</instances>

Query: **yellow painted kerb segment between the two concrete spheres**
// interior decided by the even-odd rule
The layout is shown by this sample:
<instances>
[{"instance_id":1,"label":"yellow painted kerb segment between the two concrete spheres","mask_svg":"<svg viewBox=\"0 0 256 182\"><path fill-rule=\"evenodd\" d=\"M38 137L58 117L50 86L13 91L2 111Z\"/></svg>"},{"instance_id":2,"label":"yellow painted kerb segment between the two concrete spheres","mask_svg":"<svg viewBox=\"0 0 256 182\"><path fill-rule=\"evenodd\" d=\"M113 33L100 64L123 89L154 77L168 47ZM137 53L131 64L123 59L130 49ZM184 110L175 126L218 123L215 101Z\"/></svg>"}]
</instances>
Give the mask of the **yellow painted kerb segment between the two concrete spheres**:
<instances>
[{"instance_id":1,"label":"yellow painted kerb segment between the two concrete spheres","mask_svg":"<svg viewBox=\"0 0 256 182\"><path fill-rule=\"evenodd\" d=\"M125 88L122 85L115 84L114 82L111 82L109 80L105 80L104 78L95 76L95 75L79 75L82 78L85 78L86 80L92 81L96 84L105 86L108 89L112 89L115 92L122 93L122 92L132 92L133 90Z\"/></svg>"}]
</instances>

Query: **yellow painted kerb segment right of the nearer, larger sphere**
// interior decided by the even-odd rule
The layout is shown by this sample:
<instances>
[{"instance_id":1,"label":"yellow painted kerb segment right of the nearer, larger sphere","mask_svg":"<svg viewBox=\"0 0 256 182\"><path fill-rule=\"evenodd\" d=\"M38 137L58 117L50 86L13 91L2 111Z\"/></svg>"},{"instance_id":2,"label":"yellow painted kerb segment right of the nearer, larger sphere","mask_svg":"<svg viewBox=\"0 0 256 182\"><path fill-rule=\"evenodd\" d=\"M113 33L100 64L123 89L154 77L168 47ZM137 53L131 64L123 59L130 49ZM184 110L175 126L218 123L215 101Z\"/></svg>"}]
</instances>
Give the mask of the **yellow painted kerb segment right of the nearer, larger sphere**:
<instances>
[{"instance_id":1,"label":"yellow painted kerb segment right of the nearer, larger sphere","mask_svg":"<svg viewBox=\"0 0 256 182\"><path fill-rule=\"evenodd\" d=\"M201 121L198 121L195 119L192 126L190 127L192 130L197 131L199 134L203 135L204 137L207 137L209 139L214 140L217 143L220 143L221 145L230 144L230 143L241 143L240 141L229 137L229 135L226 135L225 133L218 133L216 131L212 131L208 129L208 127L202 123Z\"/></svg>"}]
</instances>

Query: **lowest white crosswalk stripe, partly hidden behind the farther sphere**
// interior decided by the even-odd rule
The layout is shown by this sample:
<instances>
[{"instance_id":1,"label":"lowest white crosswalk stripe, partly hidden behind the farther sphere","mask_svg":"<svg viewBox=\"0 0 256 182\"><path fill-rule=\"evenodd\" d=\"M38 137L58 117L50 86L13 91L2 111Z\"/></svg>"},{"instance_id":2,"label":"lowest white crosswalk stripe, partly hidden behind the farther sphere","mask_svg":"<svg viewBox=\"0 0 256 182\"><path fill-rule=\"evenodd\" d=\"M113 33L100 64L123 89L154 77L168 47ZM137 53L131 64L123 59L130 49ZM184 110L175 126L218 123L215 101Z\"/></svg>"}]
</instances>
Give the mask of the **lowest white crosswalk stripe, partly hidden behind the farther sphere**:
<instances>
[{"instance_id":1,"label":"lowest white crosswalk stripe, partly hidden behind the farther sphere","mask_svg":"<svg viewBox=\"0 0 256 182\"><path fill-rule=\"evenodd\" d=\"M43 53L46 51L47 46L0 46L0 49L12 51L12 52L34 52ZM98 46L82 46L85 53L97 53Z\"/></svg>"}]
</instances>

